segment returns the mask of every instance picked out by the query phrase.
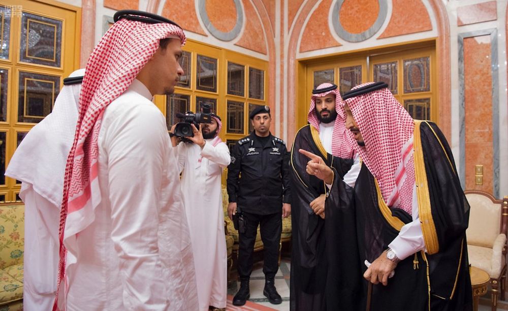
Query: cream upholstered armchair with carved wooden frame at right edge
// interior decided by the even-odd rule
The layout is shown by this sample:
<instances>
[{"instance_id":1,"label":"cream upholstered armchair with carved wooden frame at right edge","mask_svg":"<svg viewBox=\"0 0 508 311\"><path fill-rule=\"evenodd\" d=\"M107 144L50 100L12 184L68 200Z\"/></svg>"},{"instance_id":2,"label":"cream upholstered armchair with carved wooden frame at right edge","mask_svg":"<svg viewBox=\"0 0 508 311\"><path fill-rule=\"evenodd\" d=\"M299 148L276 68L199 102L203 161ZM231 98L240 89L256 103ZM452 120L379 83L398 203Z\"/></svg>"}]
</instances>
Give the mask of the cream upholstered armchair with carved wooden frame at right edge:
<instances>
[{"instance_id":1,"label":"cream upholstered armchair with carved wooden frame at right edge","mask_svg":"<svg viewBox=\"0 0 508 311\"><path fill-rule=\"evenodd\" d=\"M482 191L470 190L464 193L471 208L466 231L469 263L489 274L492 311L495 311L499 288L501 300L505 299L508 197L497 200Z\"/></svg>"}]
</instances>

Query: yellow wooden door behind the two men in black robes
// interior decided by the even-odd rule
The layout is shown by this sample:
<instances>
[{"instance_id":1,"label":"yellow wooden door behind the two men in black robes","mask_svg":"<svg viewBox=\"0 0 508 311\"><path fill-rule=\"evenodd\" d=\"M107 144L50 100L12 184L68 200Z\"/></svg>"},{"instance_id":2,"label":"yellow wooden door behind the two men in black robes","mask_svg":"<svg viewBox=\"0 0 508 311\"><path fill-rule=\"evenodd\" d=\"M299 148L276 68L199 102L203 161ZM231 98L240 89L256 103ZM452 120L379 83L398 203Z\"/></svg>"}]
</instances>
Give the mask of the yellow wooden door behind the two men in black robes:
<instances>
[{"instance_id":1,"label":"yellow wooden door behind the two men in black robes","mask_svg":"<svg viewBox=\"0 0 508 311\"><path fill-rule=\"evenodd\" d=\"M306 60L304 69L299 72L305 76L305 98L298 99L297 127L307 124L312 89L324 82L337 84L340 94L361 83L386 82L413 118L438 123L437 61L432 43Z\"/></svg>"}]
</instances>

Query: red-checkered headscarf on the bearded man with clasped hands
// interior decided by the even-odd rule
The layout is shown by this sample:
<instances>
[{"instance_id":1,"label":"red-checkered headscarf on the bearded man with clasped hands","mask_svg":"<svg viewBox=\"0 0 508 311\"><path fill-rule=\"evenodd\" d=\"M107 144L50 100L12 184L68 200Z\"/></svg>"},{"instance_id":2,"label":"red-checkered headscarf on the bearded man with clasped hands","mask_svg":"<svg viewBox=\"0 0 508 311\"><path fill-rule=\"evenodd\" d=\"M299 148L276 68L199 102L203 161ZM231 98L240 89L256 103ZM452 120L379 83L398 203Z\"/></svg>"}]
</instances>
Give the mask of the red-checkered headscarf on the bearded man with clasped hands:
<instances>
[{"instance_id":1,"label":"red-checkered headscarf on the bearded man with clasped hands","mask_svg":"<svg viewBox=\"0 0 508 311\"><path fill-rule=\"evenodd\" d=\"M332 86L331 83L323 83L317 86L316 89L322 89ZM345 127L345 114L344 114L344 102L342 101L342 97L340 96L339 90L336 88L334 90L330 90L327 92L323 92L320 94L314 94L310 97L310 109L307 119L311 126L313 126L317 132L319 133L319 119L317 118L315 106L316 97L324 97L328 94L335 94L335 111L337 112L337 118L335 119L335 124L333 126L332 133L332 154L334 157L351 159L353 158L353 143L350 139L346 139L347 131Z\"/></svg>"}]
</instances>

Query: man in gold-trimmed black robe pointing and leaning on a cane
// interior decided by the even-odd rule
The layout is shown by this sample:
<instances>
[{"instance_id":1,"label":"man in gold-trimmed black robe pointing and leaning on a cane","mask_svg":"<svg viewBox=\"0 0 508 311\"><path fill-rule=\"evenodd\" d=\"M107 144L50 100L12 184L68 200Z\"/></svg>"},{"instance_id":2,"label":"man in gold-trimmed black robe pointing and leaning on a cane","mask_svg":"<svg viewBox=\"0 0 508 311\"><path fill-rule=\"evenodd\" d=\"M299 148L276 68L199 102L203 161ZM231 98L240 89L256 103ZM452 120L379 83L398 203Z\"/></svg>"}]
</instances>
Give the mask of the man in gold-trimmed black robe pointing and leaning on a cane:
<instances>
[{"instance_id":1,"label":"man in gold-trimmed black robe pointing and leaning on a cane","mask_svg":"<svg viewBox=\"0 0 508 311\"><path fill-rule=\"evenodd\" d=\"M362 159L353 195L320 157L301 151L311 158L309 174L331 184L327 222L334 213L338 236L357 243L341 251L356 264L339 262L332 277L362 279L353 285L361 299L357 308L344 306L347 300L335 307L470 311L469 205L450 146L435 123L413 120L386 87L367 83L343 96L346 127ZM351 214L356 228L345 232ZM327 245L334 248L340 245Z\"/></svg>"}]
</instances>

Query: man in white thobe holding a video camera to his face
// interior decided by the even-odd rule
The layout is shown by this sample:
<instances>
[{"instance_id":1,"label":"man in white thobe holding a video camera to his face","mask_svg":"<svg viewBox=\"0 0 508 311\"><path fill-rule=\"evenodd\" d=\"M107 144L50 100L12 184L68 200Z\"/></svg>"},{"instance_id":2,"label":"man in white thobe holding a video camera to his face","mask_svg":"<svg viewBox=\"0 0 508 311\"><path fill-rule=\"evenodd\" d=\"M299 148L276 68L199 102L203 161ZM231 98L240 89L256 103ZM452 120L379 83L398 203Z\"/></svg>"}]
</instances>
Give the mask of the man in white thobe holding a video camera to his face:
<instances>
[{"instance_id":1,"label":"man in white thobe holding a video camera to his face","mask_svg":"<svg viewBox=\"0 0 508 311\"><path fill-rule=\"evenodd\" d=\"M228 146L218 136L220 118L205 105L201 113L187 112L179 116L185 122L174 125L170 133L178 169L183 170L181 189L202 311L226 308L227 251L220 183L223 169L231 160ZM210 123L206 123L208 120ZM179 144L178 140L181 140Z\"/></svg>"}]
</instances>

